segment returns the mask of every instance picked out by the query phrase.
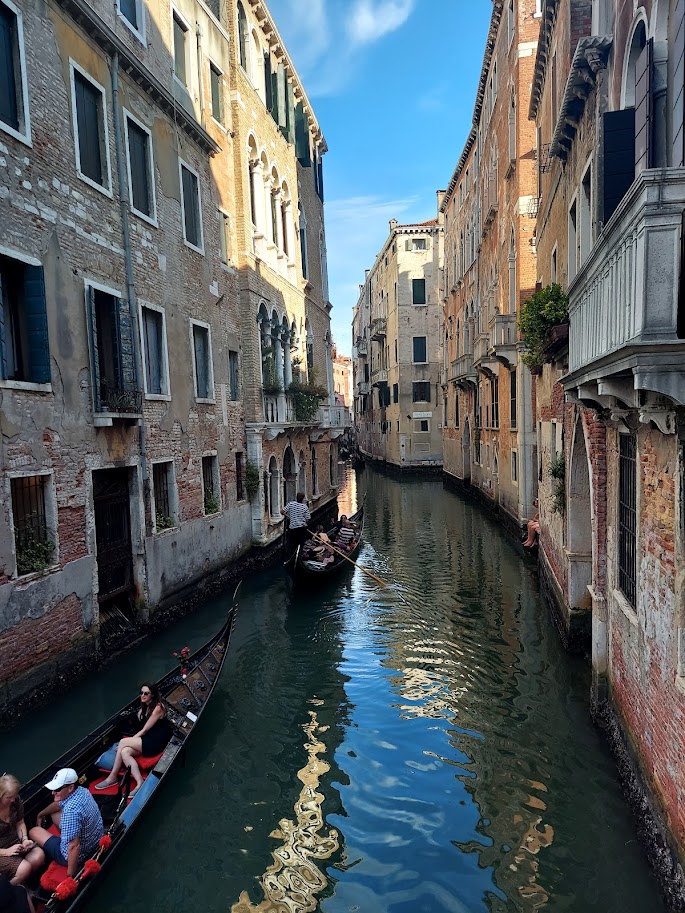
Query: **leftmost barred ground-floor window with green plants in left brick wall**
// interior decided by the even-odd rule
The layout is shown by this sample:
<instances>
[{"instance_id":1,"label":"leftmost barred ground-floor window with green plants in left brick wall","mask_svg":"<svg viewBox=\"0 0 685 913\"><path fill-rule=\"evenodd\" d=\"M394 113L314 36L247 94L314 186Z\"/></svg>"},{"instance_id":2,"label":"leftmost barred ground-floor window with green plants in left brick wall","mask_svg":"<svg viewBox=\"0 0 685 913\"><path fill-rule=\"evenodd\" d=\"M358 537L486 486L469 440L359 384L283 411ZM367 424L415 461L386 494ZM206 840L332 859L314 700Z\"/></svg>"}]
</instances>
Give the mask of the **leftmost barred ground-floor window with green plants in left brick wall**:
<instances>
[{"instance_id":1,"label":"leftmost barred ground-floor window with green plants in left brick wall","mask_svg":"<svg viewBox=\"0 0 685 913\"><path fill-rule=\"evenodd\" d=\"M10 479L17 576L45 570L55 563L54 533L48 517L49 475Z\"/></svg>"}]
</instances>

